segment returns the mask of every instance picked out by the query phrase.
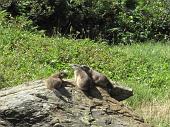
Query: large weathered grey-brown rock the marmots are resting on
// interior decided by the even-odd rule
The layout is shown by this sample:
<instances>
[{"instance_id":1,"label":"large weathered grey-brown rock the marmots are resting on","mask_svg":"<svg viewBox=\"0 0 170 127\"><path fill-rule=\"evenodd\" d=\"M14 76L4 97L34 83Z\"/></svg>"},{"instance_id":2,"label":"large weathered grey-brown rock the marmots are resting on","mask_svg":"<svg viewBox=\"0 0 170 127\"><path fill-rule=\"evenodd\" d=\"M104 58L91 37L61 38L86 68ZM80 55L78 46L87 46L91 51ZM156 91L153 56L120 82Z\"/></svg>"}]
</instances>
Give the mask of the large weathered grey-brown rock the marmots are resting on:
<instances>
[{"instance_id":1,"label":"large weathered grey-brown rock the marmots are resting on","mask_svg":"<svg viewBox=\"0 0 170 127\"><path fill-rule=\"evenodd\" d=\"M120 89L120 88L119 88ZM0 91L0 127L147 127L143 119L101 88L58 92L34 81Z\"/></svg>"}]
</instances>

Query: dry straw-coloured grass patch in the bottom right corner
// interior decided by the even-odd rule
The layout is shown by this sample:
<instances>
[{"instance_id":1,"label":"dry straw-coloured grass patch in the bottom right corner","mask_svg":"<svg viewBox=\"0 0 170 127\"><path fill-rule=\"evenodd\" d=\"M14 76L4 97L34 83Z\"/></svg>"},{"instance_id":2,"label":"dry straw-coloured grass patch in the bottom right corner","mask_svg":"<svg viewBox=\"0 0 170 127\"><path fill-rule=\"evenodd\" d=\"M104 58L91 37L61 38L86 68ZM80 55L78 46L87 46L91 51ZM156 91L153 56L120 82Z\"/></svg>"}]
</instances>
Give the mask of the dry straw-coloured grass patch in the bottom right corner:
<instances>
[{"instance_id":1,"label":"dry straw-coloured grass patch in the bottom right corner","mask_svg":"<svg viewBox=\"0 0 170 127\"><path fill-rule=\"evenodd\" d=\"M151 103L143 103L137 112L142 115L146 121L156 127L170 126L170 100L165 102L153 101Z\"/></svg>"}]
</instances>

